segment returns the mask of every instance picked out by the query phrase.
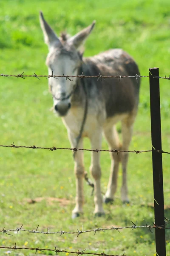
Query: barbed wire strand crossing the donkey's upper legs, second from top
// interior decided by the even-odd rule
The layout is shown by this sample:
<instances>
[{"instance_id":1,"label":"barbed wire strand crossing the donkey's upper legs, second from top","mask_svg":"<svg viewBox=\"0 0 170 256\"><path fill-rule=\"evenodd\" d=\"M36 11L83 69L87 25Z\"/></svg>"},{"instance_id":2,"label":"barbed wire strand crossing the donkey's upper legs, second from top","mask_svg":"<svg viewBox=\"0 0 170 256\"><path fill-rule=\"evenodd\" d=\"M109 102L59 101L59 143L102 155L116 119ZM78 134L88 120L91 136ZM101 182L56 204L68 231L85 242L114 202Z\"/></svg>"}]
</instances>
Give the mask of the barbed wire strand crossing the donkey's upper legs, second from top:
<instances>
[{"instance_id":1,"label":"barbed wire strand crossing the donkey's upper legs, second from top","mask_svg":"<svg viewBox=\"0 0 170 256\"><path fill-rule=\"evenodd\" d=\"M47 149L49 151L55 151L55 150L71 150L73 152L76 151L93 151L93 152L111 152L111 153L146 153L146 152L152 152L152 149L150 150L119 150L119 149L88 149L88 148L58 148L58 147L39 147L39 146L25 146L25 145L15 145L14 142L11 145L0 145L0 147L3 148L31 148L31 149ZM157 153L164 153L164 154L170 154L170 152L163 151L163 150L156 150L153 148Z\"/></svg>"}]
</instances>

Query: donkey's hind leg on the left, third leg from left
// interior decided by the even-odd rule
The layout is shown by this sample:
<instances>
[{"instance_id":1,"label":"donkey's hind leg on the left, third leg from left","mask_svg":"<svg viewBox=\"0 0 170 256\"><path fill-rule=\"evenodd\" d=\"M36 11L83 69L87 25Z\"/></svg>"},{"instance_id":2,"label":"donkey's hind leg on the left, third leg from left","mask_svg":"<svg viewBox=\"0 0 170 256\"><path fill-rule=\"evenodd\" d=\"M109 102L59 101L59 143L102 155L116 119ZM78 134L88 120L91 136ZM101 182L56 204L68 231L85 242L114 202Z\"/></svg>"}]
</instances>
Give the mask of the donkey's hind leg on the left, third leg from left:
<instances>
[{"instance_id":1,"label":"donkey's hind leg on the left, third leg from left","mask_svg":"<svg viewBox=\"0 0 170 256\"><path fill-rule=\"evenodd\" d=\"M104 135L109 144L109 149L120 149L119 135L113 124L106 124L103 127ZM120 153L119 153L120 154ZM107 204L113 202L113 195L117 189L117 176L119 171L120 156L117 153L111 153L111 173L109 177L108 189L104 197Z\"/></svg>"}]
</instances>

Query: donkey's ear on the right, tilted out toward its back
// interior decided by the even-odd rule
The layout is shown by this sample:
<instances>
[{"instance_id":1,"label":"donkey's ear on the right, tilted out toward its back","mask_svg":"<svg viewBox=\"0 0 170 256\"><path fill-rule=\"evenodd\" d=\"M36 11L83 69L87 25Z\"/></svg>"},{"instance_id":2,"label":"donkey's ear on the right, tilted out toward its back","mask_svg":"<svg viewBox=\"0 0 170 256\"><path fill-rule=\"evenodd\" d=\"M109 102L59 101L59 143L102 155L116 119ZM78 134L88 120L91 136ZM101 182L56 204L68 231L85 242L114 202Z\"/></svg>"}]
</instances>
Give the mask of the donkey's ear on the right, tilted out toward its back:
<instances>
[{"instance_id":1,"label":"donkey's ear on the right, tilted out toward its back","mask_svg":"<svg viewBox=\"0 0 170 256\"><path fill-rule=\"evenodd\" d=\"M76 48L79 48L84 43L85 39L88 37L92 29L94 28L95 23L96 21L94 20L90 26L81 30L76 35L72 36L70 39L68 39L68 43L74 45L74 47Z\"/></svg>"}]
</instances>

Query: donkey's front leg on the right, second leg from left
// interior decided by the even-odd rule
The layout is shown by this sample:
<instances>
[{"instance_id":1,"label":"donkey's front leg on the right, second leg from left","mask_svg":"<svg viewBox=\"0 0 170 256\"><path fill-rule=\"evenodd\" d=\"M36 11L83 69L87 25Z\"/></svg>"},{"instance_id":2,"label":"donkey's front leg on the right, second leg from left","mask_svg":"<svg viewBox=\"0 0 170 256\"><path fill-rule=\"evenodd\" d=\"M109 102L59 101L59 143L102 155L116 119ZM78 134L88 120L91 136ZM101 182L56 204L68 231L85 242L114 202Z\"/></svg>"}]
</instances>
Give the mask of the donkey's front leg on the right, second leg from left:
<instances>
[{"instance_id":1,"label":"donkey's front leg on the right, second leg from left","mask_svg":"<svg viewBox=\"0 0 170 256\"><path fill-rule=\"evenodd\" d=\"M93 136L90 138L91 148L100 149L102 145L102 129L95 130ZM105 212L102 207L102 193L100 186L101 168L100 168L100 152L91 152L91 175L94 178L94 214L101 216Z\"/></svg>"}]
</instances>

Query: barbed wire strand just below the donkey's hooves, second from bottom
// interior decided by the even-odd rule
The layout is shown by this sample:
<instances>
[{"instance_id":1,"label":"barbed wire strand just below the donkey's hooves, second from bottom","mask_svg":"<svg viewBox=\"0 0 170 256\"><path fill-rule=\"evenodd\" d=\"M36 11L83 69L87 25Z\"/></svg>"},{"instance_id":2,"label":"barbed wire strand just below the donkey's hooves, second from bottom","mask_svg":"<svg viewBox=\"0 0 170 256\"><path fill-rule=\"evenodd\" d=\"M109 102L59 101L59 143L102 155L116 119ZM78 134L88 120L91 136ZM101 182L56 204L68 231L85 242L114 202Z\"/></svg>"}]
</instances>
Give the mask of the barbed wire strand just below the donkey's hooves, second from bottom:
<instances>
[{"instance_id":1,"label":"barbed wire strand just below the donkey's hooves, second from bottom","mask_svg":"<svg viewBox=\"0 0 170 256\"><path fill-rule=\"evenodd\" d=\"M5 229L5 227L3 228L3 230L0 230L0 233L3 233L4 234L7 234L9 236L13 236L12 234L10 234L9 232L16 232L17 234L21 234L20 232L28 232L28 233L34 233L34 234L45 234L45 235L48 235L48 234L59 234L59 236L62 236L63 234L77 234L77 237L80 235L80 234L83 234L83 233L89 233L89 232L93 232L94 235L96 234L96 232L99 232L99 231L102 231L102 232L105 232L106 230L117 230L118 232L120 232L119 230L121 229L138 229L138 228L147 228L150 230L151 233L153 233L151 231L151 229L170 229L170 227L167 227L167 224L170 224L170 220L165 218L166 222L164 225L161 225L161 226L157 226L156 224L152 223L152 225L150 225L148 222L146 222L145 225L143 226L138 226L138 221L136 221L136 224L131 221L131 223L133 224L132 226L127 226L127 227L105 227L105 228L94 228L94 229L91 229L91 230L83 230L83 225L82 225L82 230L79 230L77 229L77 231L64 231L64 230L60 230L60 231L54 231L54 232L50 232L49 231L49 228L47 228L47 231L38 231L38 228L39 228L39 225L37 226L36 230L26 230L26 229L22 229L23 225L21 225L21 227L19 228L16 228L16 229Z\"/></svg>"}]
</instances>

